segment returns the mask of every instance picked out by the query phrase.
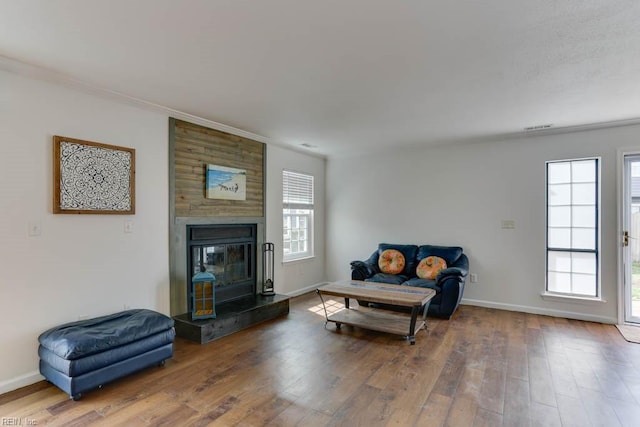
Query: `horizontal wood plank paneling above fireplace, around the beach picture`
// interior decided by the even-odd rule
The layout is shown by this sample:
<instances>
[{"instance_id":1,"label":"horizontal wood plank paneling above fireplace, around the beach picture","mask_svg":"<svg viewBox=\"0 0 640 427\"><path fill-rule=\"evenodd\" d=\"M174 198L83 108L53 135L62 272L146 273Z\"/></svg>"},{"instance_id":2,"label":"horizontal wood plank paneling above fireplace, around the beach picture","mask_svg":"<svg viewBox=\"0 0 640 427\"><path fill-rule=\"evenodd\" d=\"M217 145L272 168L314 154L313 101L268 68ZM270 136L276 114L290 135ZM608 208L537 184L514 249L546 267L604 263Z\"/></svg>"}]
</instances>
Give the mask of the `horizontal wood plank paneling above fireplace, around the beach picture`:
<instances>
[{"instance_id":1,"label":"horizontal wood plank paneling above fireplace, around the beach picture","mask_svg":"<svg viewBox=\"0 0 640 427\"><path fill-rule=\"evenodd\" d=\"M264 217L265 144L173 120L176 217ZM247 171L246 200L205 197L208 164Z\"/></svg>"}]
</instances>

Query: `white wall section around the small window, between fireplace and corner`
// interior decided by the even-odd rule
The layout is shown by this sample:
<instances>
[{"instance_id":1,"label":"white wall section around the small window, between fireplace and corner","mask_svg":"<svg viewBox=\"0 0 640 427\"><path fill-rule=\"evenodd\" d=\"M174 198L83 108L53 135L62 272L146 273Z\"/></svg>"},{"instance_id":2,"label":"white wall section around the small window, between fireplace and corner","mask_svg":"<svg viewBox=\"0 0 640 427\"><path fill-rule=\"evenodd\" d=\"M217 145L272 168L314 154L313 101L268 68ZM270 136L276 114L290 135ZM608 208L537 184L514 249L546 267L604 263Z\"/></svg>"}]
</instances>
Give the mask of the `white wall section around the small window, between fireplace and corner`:
<instances>
[{"instance_id":1,"label":"white wall section around the small window, between fireplace and corner","mask_svg":"<svg viewBox=\"0 0 640 427\"><path fill-rule=\"evenodd\" d=\"M314 254L311 259L282 262L282 170L314 176ZM298 295L326 280L325 273L325 160L281 147L267 146L266 239L275 246L274 288Z\"/></svg>"}]
</instances>

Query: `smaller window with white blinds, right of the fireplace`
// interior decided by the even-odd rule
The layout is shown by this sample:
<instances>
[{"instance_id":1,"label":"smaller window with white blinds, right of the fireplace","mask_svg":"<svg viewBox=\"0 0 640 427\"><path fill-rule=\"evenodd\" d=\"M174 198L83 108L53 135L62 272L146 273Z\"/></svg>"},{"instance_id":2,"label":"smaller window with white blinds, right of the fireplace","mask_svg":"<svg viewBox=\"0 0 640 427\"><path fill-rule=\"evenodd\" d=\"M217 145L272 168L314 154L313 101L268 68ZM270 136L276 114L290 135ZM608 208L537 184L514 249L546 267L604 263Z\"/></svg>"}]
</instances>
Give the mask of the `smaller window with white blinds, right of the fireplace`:
<instances>
[{"instance_id":1,"label":"smaller window with white blinds, right of the fireplace","mask_svg":"<svg viewBox=\"0 0 640 427\"><path fill-rule=\"evenodd\" d=\"M313 176L282 171L283 260L313 256Z\"/></svg>"}]
</instances>

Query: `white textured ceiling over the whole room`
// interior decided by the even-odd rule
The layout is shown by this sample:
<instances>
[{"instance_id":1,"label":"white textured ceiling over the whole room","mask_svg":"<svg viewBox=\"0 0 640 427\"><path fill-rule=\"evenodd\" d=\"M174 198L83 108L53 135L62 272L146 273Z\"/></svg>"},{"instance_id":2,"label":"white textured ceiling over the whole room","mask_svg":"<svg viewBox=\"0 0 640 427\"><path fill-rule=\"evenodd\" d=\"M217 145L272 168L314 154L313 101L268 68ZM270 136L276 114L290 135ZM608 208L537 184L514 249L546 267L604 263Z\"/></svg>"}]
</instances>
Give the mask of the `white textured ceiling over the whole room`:
<instances>
[{"instance_id":1,"label":"white textured ceiling over the whole room","mask_svg":"<svg viewBox=\"0 0 640 427\"><path fill-rule=\"evenodd\" d=\"M640 117L637 0L2 0L0 55L326 156Z\"/></svg>"}]
</instances>

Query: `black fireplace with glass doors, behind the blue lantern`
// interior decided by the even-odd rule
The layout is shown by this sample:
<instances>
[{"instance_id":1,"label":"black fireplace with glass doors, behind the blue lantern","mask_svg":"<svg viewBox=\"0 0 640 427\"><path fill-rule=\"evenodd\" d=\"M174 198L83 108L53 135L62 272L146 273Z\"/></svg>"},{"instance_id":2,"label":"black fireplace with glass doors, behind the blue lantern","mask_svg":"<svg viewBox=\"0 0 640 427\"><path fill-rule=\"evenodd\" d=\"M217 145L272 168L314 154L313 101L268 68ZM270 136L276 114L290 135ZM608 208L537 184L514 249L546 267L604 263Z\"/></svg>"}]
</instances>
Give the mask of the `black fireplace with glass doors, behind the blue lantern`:
<instances>
[{"instance_id":1,"label":"black fireplace with glass doors, behind the blue lantern","mask_svg":"<svg viewBox=\"0 0 640 427\"><path fill-rule=\"evenodd\" d=\"M192 278L215 276L215 305L256 294L256 224L187 225L187 303L193 312Z\"/></svg>"}]
</instances>

